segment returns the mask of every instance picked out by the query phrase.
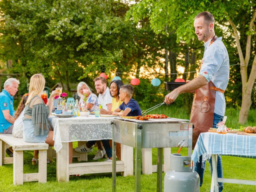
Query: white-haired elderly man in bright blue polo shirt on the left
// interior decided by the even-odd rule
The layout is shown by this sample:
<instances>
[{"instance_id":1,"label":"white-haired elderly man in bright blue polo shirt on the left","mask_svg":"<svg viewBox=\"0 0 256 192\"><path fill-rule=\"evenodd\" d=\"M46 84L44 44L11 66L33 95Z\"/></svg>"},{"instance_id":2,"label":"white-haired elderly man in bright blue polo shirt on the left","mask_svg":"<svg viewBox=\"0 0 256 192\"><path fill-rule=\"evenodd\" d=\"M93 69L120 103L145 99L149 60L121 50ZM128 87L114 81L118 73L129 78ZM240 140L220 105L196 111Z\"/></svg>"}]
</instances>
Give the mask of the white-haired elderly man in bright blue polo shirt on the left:
<instances>
[{"instance_id":1,"label":"white-haired elderly man in bright blue polo shirt on the left","mask_svg":"<svg viewBox=\"0 0 256 192\"><path fill-rule=\"evenodd\" d=\"M20 81L9 78L4 82L4 90L0 93L0 134L12 134L14 124L13 96L18 91ZM13 156L12 149L6 149L9 156Z\"/></svg>"}]
</instances>

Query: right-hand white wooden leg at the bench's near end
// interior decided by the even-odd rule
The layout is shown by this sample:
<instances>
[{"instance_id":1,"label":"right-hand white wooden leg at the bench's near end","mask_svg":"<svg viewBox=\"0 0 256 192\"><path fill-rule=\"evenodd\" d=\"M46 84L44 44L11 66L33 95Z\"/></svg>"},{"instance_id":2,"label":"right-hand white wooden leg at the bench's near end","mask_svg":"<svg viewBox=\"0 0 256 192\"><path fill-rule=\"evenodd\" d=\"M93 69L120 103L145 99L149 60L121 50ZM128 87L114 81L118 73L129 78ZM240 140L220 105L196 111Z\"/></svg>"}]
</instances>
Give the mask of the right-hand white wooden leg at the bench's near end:
<instances>
[{"instance_id":1,"label":"right-hand white wooden leg at the bench's near end","mask_svg":"<svg viewBox=\"0 0 256 192\"><path fill-rule=\"evenodd\" d=\"M38 182L47 181L47 150L39 150Z\"/></svg>"}]
</instances>

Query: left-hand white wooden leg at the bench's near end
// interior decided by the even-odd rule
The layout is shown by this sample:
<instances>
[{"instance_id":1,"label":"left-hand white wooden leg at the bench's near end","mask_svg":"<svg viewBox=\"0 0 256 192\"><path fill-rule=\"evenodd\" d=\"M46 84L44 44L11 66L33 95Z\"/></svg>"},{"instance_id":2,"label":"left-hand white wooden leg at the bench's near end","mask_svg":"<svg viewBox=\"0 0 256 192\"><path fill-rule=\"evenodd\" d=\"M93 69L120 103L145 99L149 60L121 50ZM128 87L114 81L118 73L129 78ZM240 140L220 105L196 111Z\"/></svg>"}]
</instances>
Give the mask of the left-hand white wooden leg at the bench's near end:
<instances>
[{"instance_id":1,"label":"left-hand white wooden leg at the bench's near end","mask_svg":"<svg viewBox=\"0 0 256 192\"><path fill-rule=\"evenodd\" d=\"M23 151L13 151L13 184L23 185Z\"/></svg>"}]
</instances>

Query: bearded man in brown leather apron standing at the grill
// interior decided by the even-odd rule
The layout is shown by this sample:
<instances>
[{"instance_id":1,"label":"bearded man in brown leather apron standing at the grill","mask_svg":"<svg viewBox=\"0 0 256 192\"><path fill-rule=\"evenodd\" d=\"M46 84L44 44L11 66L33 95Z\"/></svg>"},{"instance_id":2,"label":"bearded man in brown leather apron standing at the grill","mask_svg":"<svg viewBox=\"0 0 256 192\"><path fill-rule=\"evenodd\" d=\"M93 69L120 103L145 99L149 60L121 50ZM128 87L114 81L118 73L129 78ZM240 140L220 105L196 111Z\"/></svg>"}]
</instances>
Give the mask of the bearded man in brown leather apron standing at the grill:
<instances>
[{"instance_id":1,"label":"bearded man in brown leather apron standing at the grill","mask_svg":"<svg viewBox=\"0 0 256 192\"><path fill-rule=\"evenodd\" d=\"M174 102L179 94L195 92L192 104L190 121L194 124L193 148L198 136L207 132L210 127L223 120L226 102L224 90L228 85L229 57L222 37L217 37L214 32L214 17L210 12L200 12L194 20L195 33L198 40L204 42L204 57L199 76L189 83L174 89L165 96L167 104ZM204 162L205 163L205 162ZM211 172L212 165L210 160ZM202 156L196 162L196 171L200 176L200 186L203 183L204 167ZM218 155L218 178L223 178L221 157ZM223 183L219 184L219 191L223 189Z\"/></svg>"}]
</instances>

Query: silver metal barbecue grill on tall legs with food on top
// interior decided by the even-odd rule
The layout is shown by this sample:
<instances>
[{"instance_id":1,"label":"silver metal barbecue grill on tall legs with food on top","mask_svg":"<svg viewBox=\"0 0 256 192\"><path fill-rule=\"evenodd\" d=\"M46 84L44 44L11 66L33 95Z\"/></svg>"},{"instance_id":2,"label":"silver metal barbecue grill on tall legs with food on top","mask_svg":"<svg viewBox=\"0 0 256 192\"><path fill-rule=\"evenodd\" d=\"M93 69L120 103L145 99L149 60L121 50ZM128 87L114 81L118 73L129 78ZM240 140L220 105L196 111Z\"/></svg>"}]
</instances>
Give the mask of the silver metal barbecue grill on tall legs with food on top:
<instances>
[{"instance_id":1,"label":"silver metal barbecue grill on tall legs with food on top","mask_svg":"<svg viewBox=\"0 0 256 192\"><path fill-rule=\"evenodd\" d=\"M136 148L135 191L140 191L141 149L158 148L157 191L162 192L163 148L178 147L185 140L188 156L192 153L192 123L189 120L166 118L146 121L118 118L113 121L113 153L116 156L116 142ZM116 158L112 160L112 191L116 191Z\"/></svg>"}]
</instances>

